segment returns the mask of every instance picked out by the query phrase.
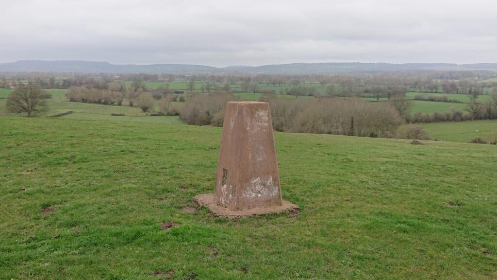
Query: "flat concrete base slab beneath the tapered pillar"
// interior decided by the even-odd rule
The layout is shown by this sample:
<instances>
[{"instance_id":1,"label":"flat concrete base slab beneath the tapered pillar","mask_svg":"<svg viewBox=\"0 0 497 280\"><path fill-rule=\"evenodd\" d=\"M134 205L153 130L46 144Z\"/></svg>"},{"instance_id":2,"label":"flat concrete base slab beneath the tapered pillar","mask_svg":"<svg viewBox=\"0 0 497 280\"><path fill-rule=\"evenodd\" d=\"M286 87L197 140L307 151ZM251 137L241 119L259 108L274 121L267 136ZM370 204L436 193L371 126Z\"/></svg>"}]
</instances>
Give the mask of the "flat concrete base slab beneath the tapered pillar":
<instances>
[{"instance_id":1,"label":"flat concrete base slab beneath the tapered pillar","mask_svg":"<svg viewBox=\"0 0 497 280\"><path fill-rule=\"evenodd\" d=\"M195 196L195 201L200 206L205 206L214 214L215 217L224 217L229 219L238 219L256 215L266 215L275 213L290 213L294 216L300 215L299 206L283 200L281 206L265 207L265 208L255 208L241 211L233 211L218 205L214 200L213 193L199 194Z\"/></svg>"}]
</instances>

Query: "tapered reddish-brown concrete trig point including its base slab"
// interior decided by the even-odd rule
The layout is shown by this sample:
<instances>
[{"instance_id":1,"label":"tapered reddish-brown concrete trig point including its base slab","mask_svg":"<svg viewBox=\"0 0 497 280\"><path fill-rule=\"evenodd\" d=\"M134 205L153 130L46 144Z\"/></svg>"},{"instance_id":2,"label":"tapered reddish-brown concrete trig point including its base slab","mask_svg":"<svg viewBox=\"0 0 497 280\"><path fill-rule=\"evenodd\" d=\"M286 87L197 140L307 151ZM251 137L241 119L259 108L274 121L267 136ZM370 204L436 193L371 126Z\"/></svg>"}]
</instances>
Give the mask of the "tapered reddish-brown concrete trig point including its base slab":
<instances>
[{"instance_id":1,"label":"tapered reddish-brown concrete trig point including its base slab","mask_svg":"<svg viewBox=\"0 0 497 280\"><path fill-rule=\"evenodd\" d=\"M195 200L228 218L298 213L297 205L281 199L268 103L228 102L214 194L200 194Z\"/></svg>"}]
</instances>

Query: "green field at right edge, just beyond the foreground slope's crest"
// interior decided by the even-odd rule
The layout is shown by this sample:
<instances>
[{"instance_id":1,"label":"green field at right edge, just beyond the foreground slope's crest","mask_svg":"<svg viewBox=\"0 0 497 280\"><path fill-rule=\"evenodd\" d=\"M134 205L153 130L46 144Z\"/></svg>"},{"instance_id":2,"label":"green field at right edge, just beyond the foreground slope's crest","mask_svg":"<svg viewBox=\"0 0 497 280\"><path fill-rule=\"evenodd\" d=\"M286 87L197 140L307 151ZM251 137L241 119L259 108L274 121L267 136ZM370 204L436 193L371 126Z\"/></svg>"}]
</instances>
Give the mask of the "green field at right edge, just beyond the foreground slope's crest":
<instances>
[{"instance_id":1,"label":"green field at right edge, just beyond the foreground slope's crest","mask_svg":"<svg viewBox=\"0 0 497 280\"><path fill-rule=\"evenodd\" d=\"M432 138L454 142L469 142L480 137L486 141L497 138L497 121L470 121L458 123L434 123L420 125Z\"/></svg>"}]
</instances>

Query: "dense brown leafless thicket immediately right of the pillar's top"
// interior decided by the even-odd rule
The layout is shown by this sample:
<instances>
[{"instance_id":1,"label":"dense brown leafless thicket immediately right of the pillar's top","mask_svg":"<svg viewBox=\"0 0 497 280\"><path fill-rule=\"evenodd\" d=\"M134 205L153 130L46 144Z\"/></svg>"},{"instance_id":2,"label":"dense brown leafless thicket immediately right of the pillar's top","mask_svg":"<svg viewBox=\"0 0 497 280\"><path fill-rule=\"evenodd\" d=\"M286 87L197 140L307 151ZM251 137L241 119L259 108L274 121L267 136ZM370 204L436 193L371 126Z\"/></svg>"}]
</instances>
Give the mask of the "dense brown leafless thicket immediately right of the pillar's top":
<instances>
[{"instance_id":1,"label":"dense brown leafless thicket immediately right of the pillar's top","mask_svg":"<svg viewBox=\"0 0 497 280\"><path fill-rule=\"evenodd\" d=\"M277 131L368 137L391 132L404 123L392 106L382 102L274 98L269 103Z\"/></svg>"}]
</instances>

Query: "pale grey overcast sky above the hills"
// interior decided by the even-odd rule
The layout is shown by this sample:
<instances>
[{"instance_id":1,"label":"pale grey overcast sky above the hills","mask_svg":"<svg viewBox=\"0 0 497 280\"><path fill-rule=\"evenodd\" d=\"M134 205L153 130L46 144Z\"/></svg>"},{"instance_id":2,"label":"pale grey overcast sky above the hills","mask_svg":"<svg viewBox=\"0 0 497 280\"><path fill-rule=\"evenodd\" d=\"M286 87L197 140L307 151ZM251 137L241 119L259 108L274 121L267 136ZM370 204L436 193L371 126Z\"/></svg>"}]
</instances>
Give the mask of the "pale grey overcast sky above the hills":
<instances>
[{"instance_id":1,"label":"pale grey overcast sky above the hills","mask_svg":"<svg viewBox=\"0 0 497 280\"><path fill-rule=\"evenodd\" d=\"M0 62L497 63L497 0L0 3Z\"/></svg>"}]
</instances>

